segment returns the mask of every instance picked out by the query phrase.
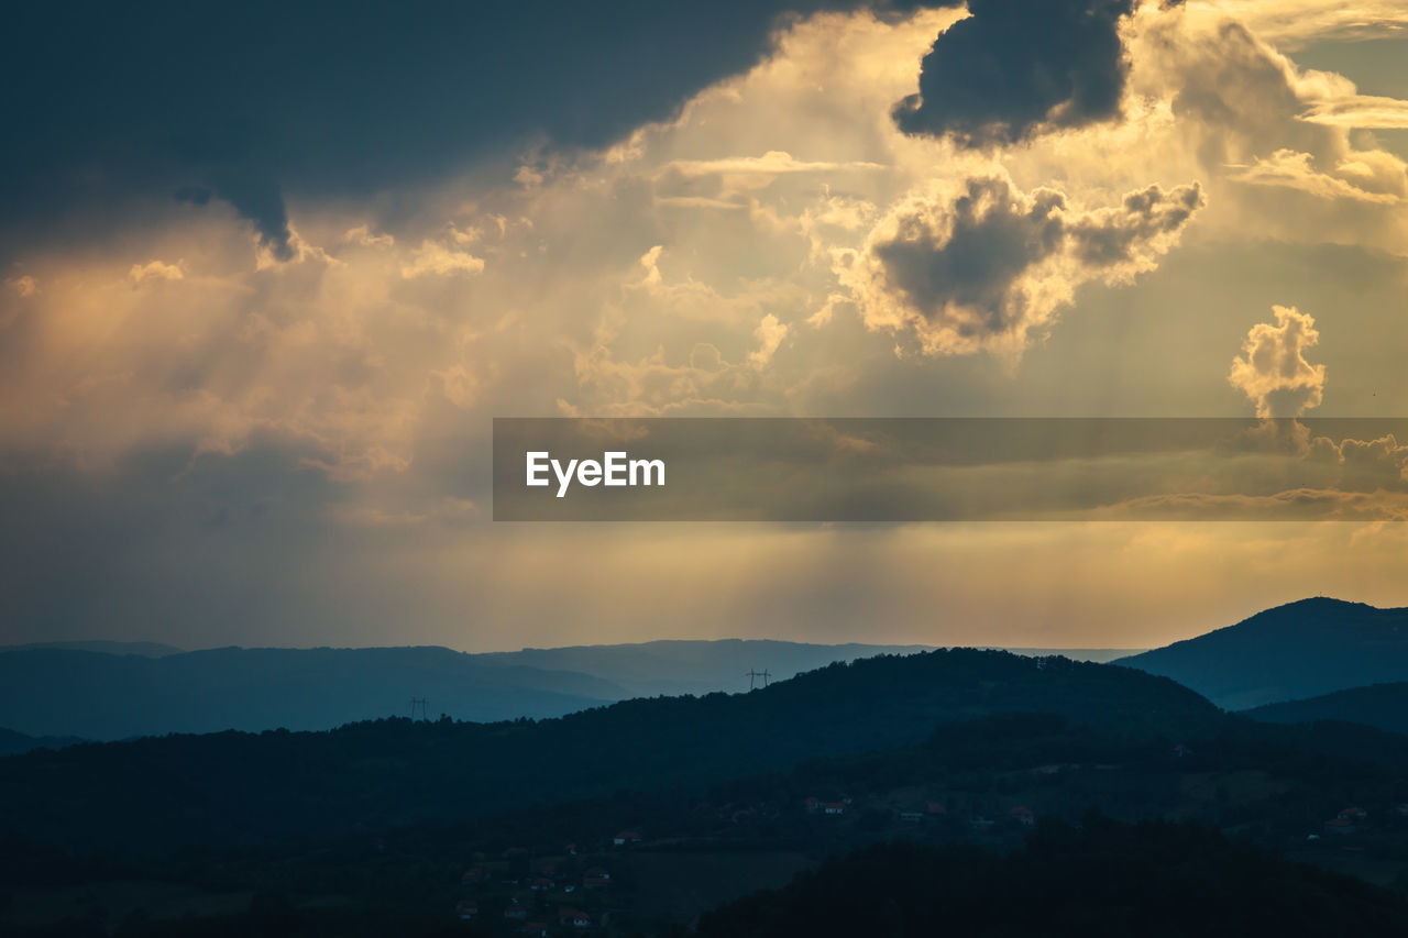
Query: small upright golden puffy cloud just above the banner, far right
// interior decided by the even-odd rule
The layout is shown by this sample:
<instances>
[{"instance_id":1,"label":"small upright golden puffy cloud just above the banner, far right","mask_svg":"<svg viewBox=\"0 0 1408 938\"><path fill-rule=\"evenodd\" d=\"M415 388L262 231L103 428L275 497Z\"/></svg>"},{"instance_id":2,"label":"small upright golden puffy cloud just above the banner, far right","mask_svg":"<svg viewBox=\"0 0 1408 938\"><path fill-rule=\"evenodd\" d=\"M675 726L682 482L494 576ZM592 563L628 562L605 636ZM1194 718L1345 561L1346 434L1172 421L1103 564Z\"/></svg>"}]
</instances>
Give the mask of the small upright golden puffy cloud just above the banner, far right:
<instances>
[{"instance_id":1,"label":"small upright golden puffy cloud just above the banner, far right","mask_svg":"<svg viewBox=\"0 0 1408 938\"><path fill-rule=\"evenodd\" d=\"M1305 349L1319 342L1315 320L1295 307L1273 306L1276 323L1257 323L1228 380L1256 404L1257 417L1300 417L1325 394L1325 366L1311 365Z\"/></svg>"}]
</instances>

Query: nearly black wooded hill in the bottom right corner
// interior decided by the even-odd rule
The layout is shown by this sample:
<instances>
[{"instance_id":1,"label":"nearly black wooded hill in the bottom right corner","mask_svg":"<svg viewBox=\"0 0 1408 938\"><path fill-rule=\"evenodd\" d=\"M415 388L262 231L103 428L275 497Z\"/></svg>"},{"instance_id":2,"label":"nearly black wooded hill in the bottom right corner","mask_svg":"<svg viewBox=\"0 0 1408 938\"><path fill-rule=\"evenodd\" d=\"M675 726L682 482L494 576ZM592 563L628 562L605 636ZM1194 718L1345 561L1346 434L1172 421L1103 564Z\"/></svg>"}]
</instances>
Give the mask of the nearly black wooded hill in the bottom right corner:
<instances>
[{"instance_id":1,"label":"nearly black wooded hill in the bottom right corner","mask_svg":"<svg viewBox=\"0 0 1408 938\"><path fill-rule=\"evenodd\" d=\"M1408 900L1194 827L1043 825L1026 849L877 844L708 913L704 938L1400 935Z\"/></svg>"}]
</instances>

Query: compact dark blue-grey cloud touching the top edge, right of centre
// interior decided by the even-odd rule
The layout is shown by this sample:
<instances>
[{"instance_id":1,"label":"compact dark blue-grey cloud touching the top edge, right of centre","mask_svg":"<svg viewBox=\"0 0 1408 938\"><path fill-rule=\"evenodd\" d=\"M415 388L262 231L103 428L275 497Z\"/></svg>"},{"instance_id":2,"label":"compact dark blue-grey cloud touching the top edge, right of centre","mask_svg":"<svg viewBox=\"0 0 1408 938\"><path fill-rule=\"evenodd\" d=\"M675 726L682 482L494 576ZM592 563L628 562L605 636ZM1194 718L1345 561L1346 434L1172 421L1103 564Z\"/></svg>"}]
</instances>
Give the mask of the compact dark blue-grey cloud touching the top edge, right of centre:
<instances>
[{"instance_id":1,"label":"compact dark blue-grey cloud touching the top edge, right of centre","mask_svg":"<svg viewBox=\"0 0 1408 938\"><path fill-rule=\"evenodd\" d=\"M941 34L924 56L919 93L895 106L903 131L987 146L1119 113L1128 72L1119 20L1132 0L967 6L973 15Z\"/></svg>"}]
</instances>

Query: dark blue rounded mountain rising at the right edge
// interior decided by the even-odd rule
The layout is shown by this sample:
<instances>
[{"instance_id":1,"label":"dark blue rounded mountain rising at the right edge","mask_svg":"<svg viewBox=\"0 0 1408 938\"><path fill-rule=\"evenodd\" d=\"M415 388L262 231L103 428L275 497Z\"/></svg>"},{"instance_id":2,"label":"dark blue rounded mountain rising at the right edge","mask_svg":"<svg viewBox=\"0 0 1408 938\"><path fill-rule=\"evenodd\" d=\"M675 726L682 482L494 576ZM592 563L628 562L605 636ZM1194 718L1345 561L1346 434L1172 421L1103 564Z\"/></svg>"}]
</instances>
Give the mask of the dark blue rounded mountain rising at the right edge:
<instances>
[{"instance_id":1,"label":"dark blue rounded mountain rising at the right edge","mask_svg":"<svg viewBox=\"0 0 1408 938\"><path fill-rule=\"evenodd\" d=\"M1308 599L1117 663L1229 710L1408 680L1408 608Z\"/></svg>"}]
</instances>

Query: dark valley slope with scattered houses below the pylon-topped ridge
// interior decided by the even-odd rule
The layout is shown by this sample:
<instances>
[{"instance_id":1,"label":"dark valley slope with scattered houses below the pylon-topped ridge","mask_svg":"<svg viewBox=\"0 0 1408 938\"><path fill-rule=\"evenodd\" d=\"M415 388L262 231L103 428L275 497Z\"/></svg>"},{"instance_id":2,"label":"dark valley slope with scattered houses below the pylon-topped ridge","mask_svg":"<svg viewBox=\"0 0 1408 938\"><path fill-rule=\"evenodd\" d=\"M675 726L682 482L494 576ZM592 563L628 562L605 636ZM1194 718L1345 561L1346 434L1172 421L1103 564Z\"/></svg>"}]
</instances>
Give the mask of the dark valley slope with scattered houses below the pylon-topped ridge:
<instances>
[{"instance_id":1,"label":"dark valley slope with scattered houses below the pylon-topped ridge","mask_svg":"<svg viewBox=\"0 0 1408 938\"><path fill-rule=\"evenodd\" d=\"M1157 735L1094 730L1053 714L998 714L941 725L915 745L808 759L696 792L612 792L465 823L434 820L165 858L65 858L0 835L0 897L7 883L13 889L8 906L0 901L0 934L52 938L42 928L72 918L82 901L84 921L99 927L82 934L117 928L124 938L445 934L463 928L456 918L465 904L477 910L480 931L456 934L521 934L520 923L503 915L517 906L528 911L527 921L551 923L553 935L583 934L573 925L552 931L563 908L584 911L597 925L610 923L594 934L680 935L700 913L781 887L826 856L897 838L1005 855L1022 848L1033 814L1077 824L1091 806L1125 823L1194 821L1404 892L1408 817L1397 806L1408 801L1401 768L1408 765L1408 738L1331 730L1336 742L1357 739L1362 752L1390 756L1393 765L1329 756L1307 728L1235 715L1211 735L1170 745ZM843 810L819 810L818 799ZM1331 835L1328 825L1338 825L1349 807L1354 820ZM618 844L621 831L641 839ZM584 887L594 869L610 873L610 887ZM465 877L466 870L474 873ZM1178 899L1193 910L1211 908L1198 904L1197 879L1183 877L1190 872L1169 877L1170 889L1183 890ZM1222 875L1215 865L1212 872ZM1298 892L1307 882L1291 876L1287 889ZM925 886L932 887L942 882ZM1012 890L1014 901L1039 894L1019 882ZM1121 908L1107 893L1091 896L1091 911ZM149 928L121 930L142 917Z\"/></svg>"}]
</instances>

